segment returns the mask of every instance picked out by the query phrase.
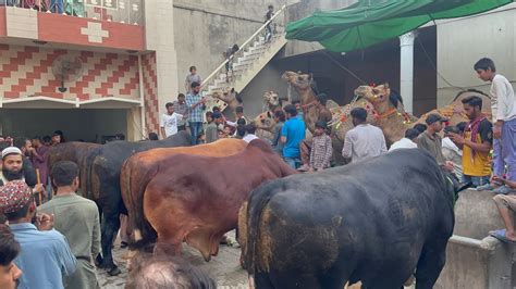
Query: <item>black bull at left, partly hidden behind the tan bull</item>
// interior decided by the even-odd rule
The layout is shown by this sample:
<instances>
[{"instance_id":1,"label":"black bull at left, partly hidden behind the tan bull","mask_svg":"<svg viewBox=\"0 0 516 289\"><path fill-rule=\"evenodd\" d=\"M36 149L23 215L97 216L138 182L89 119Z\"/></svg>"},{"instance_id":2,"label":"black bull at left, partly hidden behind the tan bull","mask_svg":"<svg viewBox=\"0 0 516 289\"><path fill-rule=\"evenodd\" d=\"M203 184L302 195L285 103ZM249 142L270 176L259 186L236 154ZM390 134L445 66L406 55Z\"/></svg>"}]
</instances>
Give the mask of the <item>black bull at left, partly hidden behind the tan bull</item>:
<instances>
[{"instance_id":1,"label":"black bull at left, partly hidden behind the tan bull","mask_svg":"<svg viewBox=\"0 0 516 289\"><path fill-rule=\"evenodd\" d=\"M120 171L122 164L132 154L155 149L191 146L191 136L186 131L159 141L113 141L91 150L85 158L84 165L89 175L85 183L89 198L95 200L102 213L101 244L102 267L110 275L118 275L120 269L113 262L111 246L120 229L120 214L126 213L120 191Z\"/></svg>"}]
</instances>

